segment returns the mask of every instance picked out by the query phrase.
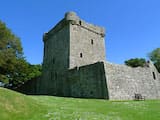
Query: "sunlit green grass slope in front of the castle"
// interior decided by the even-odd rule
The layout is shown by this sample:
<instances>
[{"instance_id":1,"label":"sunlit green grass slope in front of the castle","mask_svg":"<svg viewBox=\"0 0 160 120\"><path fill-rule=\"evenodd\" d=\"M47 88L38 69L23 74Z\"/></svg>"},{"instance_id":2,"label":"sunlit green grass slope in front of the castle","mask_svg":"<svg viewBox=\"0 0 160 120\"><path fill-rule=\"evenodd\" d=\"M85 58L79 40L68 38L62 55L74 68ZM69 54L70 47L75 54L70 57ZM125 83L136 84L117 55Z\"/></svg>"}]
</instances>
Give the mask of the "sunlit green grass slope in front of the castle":
<instances>
[{"instance_id":1,"label":"sunlit green grass slope in front of the castle","mask_svg":"<svg viewBox=\"0 0 160 120\"><path fill-rule=\"evenodd\" d=\"M160 100L26 96L0 88L0 120L160 120Z\"/></svg>"}]
</instances>

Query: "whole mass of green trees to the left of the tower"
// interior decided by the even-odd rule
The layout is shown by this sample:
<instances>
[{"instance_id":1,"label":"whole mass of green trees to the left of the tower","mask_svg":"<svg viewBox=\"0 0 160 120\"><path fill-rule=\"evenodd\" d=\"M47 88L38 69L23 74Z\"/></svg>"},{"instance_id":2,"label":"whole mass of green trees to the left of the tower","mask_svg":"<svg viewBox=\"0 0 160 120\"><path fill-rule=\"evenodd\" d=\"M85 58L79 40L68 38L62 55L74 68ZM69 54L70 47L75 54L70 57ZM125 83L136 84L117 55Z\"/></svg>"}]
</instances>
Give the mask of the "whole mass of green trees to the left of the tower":
<instances>
[{"instance_id":1,"label":"whole mass of green trees to the left of the tower","mask_svg":"<svg viewBox=\"0 0 160 120\"><path fill-rule=\"evenodd\" d=\"M41 74L41 65L29 64L20 39L0 21L0 82L11 87Z\"/></svg>"}]
</instances>

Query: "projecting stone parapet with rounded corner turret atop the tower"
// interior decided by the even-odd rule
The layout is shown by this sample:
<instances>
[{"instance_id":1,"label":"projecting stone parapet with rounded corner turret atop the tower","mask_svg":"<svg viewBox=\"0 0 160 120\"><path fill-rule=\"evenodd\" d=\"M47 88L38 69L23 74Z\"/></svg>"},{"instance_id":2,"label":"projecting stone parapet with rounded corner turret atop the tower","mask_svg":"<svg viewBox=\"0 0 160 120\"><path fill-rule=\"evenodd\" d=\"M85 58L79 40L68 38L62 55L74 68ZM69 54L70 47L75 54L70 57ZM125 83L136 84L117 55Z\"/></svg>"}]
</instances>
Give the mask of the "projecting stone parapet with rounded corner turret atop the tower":
<instances>
[{"instance_id":1,"label":"projecting stone parapet with rounded corner turret atop the tower","mask_svg":"<svg viewBox=\"0 0 160 120\"><path fill-rule=\"evenodd\" d=\"M55 27L53 27L49 32L44 33L43 41L45 42L49 36L56 34L68 24L81 26L88 31L101 35L102 37L105 36L105 29L103 27L89 24L83 21L77 16L75 12L66 12L64 18Z\"/></svg>"}]
</instances>

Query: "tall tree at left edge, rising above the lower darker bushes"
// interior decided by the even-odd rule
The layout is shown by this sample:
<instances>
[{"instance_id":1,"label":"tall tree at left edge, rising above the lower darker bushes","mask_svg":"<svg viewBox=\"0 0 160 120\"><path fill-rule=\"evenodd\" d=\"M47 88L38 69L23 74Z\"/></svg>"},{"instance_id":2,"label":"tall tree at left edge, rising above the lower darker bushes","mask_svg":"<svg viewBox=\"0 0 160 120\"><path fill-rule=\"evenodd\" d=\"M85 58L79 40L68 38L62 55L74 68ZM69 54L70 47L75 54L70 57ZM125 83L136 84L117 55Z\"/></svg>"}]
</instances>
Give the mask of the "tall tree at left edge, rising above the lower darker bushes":
<instances>
[{"instance_id":1,"label":"tall tree at left edge, rising above the lower darker bushes","mask_svg":"<svg viewBox=\"0 0 160 120\"><path fill-rule=\"evenodd\" d=\"M16 65L24 61L20 39L0 21L0 80L9 83ZM17 74L17 73L16 73Z\"/></svg>"}]
</instances>

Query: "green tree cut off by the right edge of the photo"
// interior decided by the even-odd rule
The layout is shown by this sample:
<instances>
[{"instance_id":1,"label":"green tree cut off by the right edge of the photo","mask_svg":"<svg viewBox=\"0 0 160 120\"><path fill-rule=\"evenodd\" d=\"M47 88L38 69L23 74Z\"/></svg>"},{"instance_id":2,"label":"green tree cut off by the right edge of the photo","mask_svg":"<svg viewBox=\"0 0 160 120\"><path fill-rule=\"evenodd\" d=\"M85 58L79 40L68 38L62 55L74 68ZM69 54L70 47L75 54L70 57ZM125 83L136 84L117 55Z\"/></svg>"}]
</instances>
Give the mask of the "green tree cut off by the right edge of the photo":
<instances>
[{"instance_id":1,"label":"green tree cut off by the right edge of the photo","mask_svg":"<svg viewBox=\"0 0 160 120\"><path fill-rule=\"evenodd\" d=\"M148 56L156 66L158 72L160 72L160 48L156 48L151 53L149 53Z\"/></svg>"}]
</instances>

